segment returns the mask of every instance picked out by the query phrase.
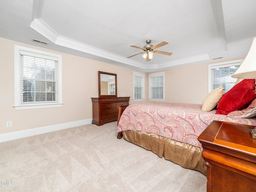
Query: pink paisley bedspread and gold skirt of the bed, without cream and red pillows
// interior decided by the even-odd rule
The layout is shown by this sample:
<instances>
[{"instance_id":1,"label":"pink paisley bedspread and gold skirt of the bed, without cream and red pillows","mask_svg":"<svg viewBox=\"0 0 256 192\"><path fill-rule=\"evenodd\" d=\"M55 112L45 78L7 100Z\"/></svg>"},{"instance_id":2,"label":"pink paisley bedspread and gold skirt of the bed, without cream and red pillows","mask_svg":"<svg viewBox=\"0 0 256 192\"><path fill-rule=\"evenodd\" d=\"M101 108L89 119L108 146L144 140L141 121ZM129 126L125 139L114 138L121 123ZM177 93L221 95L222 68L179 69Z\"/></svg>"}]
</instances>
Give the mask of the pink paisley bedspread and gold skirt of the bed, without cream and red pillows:
<instances>
[{"instance_id":1,"label":"pink paisley bedspread and gold skirt of the bed, without cream and red pillows","mask_svg":"<svg viewBox=\"0 0 256 192\"><path fill-rule=\"evenodd\" d=\"M252 103L254 106L250 106ZM255 113L256 99L250 105L244 110L253 109ZM216 108L205 112L202 104L154 102L118 106L118 109L119 139L124 138L160 158L164 156L166 160L205 175L203 149L197 138L213 120L256 126L255 115L240 118L234 114L216 114Z\"/></svg>"}]
</instances>

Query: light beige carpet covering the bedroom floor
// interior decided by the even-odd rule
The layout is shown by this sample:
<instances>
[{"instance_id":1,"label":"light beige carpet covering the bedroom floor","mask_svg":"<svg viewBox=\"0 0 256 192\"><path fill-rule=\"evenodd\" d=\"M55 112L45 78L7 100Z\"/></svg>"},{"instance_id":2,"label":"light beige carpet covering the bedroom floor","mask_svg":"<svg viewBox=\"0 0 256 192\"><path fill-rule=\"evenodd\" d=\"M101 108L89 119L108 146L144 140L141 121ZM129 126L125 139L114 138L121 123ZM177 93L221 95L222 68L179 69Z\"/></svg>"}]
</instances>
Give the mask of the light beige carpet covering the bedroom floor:
<instances>
[{"instance_id":1,"label":"light beige carpet covering the bedroom floor","mask_svg":"<svg viewBox=\"0 0 256 192\"><path fill-rule=\"evenodd\" d=\"M206 192L206 176L116 138L116 122L0 143L1 192Z\"/></svg>"}]
</instances>

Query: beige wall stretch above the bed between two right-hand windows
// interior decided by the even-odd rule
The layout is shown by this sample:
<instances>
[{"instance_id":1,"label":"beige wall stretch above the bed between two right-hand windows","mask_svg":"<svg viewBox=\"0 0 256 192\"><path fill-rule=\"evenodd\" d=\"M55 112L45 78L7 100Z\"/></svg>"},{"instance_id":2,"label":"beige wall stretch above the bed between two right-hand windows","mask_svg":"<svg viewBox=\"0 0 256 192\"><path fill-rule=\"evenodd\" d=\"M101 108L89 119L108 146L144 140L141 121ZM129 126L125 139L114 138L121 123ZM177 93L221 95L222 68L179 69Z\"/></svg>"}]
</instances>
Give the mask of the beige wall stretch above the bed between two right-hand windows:
<instances>
[{"instance_id":1,"label":"beige wall stretch above the bed between two right-hand windows","mask_svg":"<svg viewBox=\"0 0 256 192\"><path fill-rule=\"evenodd\" d=\"M208 64L165 71L166 102L202 104L208 94Z\"/></svg>"}]
</instances>

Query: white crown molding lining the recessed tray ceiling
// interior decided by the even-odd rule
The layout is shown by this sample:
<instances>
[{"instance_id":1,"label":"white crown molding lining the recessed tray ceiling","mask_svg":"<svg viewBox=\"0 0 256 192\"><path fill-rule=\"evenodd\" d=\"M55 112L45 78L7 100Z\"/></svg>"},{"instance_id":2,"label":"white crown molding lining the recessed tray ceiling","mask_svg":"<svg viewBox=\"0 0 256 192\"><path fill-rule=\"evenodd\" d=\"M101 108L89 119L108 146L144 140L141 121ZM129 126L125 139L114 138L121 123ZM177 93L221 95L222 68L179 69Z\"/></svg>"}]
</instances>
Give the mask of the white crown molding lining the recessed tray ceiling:
<instances>
[{"instance_id":1,"label":"white crown molding lining the recessed tray ceiling","mask_svg":"<svg viewBox=\"0 0 256 192\"><path fill-rule=\"evenodd\" d=\"M208 60L217 54L227 51L226 32L225 32L225 26L224 26L224 17L223 17L221 0L211 0L216 28L218 30L218 38L220 40L220 46L210 53L204 53L204 54L200 54L192 57L172 60L170 62L164 62L162 64L143 64L141 62L137 62L132 59L128 59L126 57L119 56L111 52L107 52L105 50L101 50L99 48L84 44L82 42L78 42L76 40L61 36L40 18L43 10L43 4L44 4L44 0L33 1L32 22L30 24L30 27L36 30L42 36L49 39L54 44L71 48L74 50L78 50L81 52L85 52L88 54L92 54L95 56L99 56L102 58L106 58L109 60L113 60L116 62L120 62L123 64L128 64L130 66L141 68L143 70L145 69L160 70L161 68L178 66L178 65L202 61L202 60Z\"/></svg>"}]
</instances>

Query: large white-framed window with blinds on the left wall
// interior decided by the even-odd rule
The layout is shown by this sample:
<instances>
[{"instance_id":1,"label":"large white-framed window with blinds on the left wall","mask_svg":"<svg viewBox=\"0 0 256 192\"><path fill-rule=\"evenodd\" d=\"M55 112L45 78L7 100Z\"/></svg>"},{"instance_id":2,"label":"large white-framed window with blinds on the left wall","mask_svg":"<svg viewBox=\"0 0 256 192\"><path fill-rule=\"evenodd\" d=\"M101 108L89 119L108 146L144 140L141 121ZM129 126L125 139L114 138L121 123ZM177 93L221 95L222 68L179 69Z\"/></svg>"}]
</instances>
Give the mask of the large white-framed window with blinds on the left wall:
<instances>
[{"instance_id":1,"label":"large white-framed window with blinds on the left wall","mask_svg":"<svg viewBox=\"0 0 256 192\"><path fill-rule=\"evenodd\" d=\"M22 46L14 52L15 109L62 106L62 57Z\"/></svg>"}]
</instances>

